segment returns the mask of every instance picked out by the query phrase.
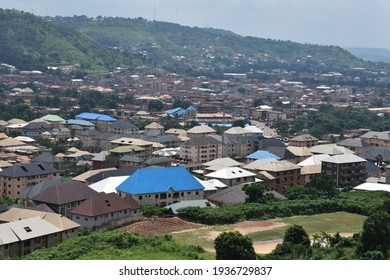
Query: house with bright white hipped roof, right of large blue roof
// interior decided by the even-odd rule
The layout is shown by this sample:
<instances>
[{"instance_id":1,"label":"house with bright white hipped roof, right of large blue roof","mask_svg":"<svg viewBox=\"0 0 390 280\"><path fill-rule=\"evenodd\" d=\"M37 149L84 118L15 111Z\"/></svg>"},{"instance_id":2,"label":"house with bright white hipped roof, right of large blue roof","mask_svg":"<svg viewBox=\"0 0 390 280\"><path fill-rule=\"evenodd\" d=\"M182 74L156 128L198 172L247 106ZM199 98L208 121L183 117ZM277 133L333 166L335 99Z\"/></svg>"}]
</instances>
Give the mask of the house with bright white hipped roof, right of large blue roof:
<instances>
[{"instance_id":1,"label":"house with bright white hipped roof, right of large blue roof","mask_svg":"<svg viewBox=\"0 0 390 280\"><path fill-rule=\"evenodd\" d=\"M256 174L239 167L226 167L205 175L208 179L218 179L227 186L252 183Z\"/></svg>"}]
</instances>

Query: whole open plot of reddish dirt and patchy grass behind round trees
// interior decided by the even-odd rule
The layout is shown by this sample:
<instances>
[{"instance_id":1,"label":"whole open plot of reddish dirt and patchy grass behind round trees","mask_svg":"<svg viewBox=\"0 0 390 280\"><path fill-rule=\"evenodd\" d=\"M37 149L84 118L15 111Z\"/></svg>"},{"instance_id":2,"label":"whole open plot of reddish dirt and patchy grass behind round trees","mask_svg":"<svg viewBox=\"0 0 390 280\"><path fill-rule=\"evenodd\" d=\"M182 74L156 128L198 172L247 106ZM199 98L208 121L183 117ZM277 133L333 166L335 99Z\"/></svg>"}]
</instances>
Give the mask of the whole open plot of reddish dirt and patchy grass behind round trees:
<instances>
[{"instance_id":1,"label":"whole open plot of reddish dirt and patchy grass behind round trees","mask_svg":"<svg viewBox=\"0 0 390 280\"><path fill-rule=\"evenodd\" d=\"M284 232L293 225L303 226L309 235L321 231L339 232L351 235L362 230L365 216L337 212L313 216L296 216L267 221L245 221L233 225L205 226L183 221L179 218L151 218L143 222L124 227L127 232L139 232L143 236L155 236L171 233L182 244L199 245L213 257L214 239L224 231L239 231L253 241L255 251L259 254L271 252L282 242Z\"/></svg>"}]
</instances>

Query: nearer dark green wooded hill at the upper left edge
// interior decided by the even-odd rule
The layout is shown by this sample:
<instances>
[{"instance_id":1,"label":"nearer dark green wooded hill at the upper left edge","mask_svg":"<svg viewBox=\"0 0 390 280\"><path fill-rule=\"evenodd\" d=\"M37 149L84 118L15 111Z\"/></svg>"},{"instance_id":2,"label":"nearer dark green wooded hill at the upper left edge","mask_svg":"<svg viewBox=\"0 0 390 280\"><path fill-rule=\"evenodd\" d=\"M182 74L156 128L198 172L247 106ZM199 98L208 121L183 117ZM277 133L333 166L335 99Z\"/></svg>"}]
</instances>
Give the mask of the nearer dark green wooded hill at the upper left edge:
<instances>
[{"instance_id":1,"label":"nearer dark green wooded hill at the upper left edge","mask_svg":"<svg viewBox=\"0 0 390 280\"><path fill-rule=\"evenodd\" d=\"M30 13L0 9L0 62L21 70L48 65L81 64L86 70L108 70L133 63L93 39Z\"/></svg>"}]
</instances>

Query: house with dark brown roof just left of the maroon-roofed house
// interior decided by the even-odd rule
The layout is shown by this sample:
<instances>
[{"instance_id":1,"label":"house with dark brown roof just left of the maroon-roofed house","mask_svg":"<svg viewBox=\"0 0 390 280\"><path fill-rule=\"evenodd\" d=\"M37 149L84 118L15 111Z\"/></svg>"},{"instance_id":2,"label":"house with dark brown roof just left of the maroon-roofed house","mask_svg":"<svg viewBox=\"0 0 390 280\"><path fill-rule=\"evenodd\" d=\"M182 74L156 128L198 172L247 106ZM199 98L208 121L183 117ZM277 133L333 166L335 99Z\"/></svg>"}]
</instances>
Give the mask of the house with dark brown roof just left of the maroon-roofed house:
<instances>
[{"instance_id":1,"label":"house with dark brown roof just left of the maroon-roofed house","mask_svg":"<svg viewBox=\"0 0 390 280\"><path fill-rule=\"evenodd\" d=\"M33 196L33 205L41 203L49 206L55 213L71 218L72 210L84 200L96 194L88 185L76 181L55 184Z\"/></svg>"}]
</instances>

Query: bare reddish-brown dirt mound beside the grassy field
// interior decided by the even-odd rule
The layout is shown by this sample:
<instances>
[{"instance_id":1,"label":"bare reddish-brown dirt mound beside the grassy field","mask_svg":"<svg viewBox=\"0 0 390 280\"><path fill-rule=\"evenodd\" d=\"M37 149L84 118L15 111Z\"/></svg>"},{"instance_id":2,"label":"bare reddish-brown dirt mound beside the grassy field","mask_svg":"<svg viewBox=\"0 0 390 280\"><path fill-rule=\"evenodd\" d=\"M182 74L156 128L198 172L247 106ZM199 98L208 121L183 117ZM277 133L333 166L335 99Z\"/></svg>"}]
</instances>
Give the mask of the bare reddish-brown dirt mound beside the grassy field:
<instances>
[{"instance_id":1,"label":"bare reddish-brown dirt mound beside the grassy field","mask_svg":"<svg viewBox=\"0 0 390 280\"><path fill-rule=\"evenodd\" d=\"M138 232L142 236L151 237L176 231L190 230L203 225L183 221L179 218L150 218L142 222L122 227L125 232Z\"/></svg>"}]
</instances>

